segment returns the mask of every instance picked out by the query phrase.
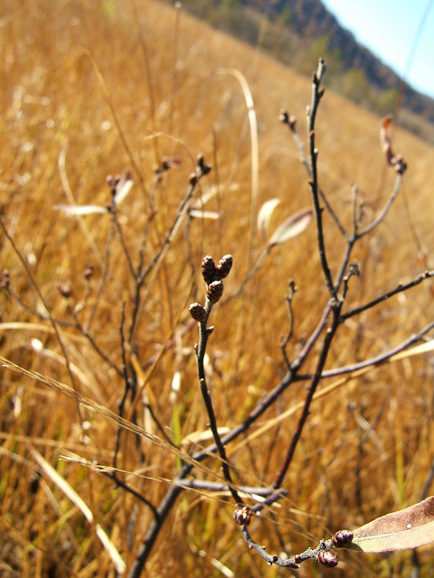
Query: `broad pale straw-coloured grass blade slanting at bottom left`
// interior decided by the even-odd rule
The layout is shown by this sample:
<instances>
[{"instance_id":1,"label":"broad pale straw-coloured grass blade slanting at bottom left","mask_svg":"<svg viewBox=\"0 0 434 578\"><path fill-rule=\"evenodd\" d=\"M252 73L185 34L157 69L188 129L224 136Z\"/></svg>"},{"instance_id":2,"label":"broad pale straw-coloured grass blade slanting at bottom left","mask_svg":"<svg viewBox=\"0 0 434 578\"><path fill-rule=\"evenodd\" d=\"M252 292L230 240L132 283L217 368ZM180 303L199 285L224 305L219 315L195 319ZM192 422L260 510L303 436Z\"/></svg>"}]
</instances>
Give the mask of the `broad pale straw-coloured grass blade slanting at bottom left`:
<instances>
[{"instance_id":1,"label":"broad pale straw-coloured grass blade slanting at bottom left","mask_svg":"<svg viewBox=\"0 0 434 578\"><path fill-rule=\"evenodd\" d=\"M29 450L32 453L33 460L39 464L42 471L44 471L48 478L50 478L50 480L52 480L52 482L56 484L59 489L61 489L61 491L68 499L71 499L71 502L80 509L81 513L84 517L86 517L90 524L95 524L95 532L99 537L99 541L109 553L111 561L113 564L115 564L117 572L120 574L124 573L127 570L127 565L122 559L122 556L118 553L118 549L111 542L109 536L106 534L103 528L99 525L99 523L95 523L93 514L87 504L83 501L83 499L80 498L75 489L73 489L71 485L64 478L62 478L57 471L54 470L52 465L42 457L41 453L37 452L30 444Z\"/></svg>"}]
</instances>

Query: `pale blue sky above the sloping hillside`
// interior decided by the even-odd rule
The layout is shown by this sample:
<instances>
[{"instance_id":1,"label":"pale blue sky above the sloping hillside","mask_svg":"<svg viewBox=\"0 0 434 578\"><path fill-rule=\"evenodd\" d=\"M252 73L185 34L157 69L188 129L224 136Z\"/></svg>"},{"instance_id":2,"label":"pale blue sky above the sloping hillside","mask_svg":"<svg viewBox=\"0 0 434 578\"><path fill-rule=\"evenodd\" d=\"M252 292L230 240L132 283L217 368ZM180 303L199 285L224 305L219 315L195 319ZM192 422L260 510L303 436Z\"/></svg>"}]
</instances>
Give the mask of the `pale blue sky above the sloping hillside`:
<instances>
[{"instance_id":1,"label":"pale blue sky above the sloping hillside","mask_svg":"<svg viewBox=\"0 0 434 578\"><path fill-rule=\"evenodd\" d=\"M356 40L434 98L434 0L322 0Z\"/></svg>"}]
</instances>

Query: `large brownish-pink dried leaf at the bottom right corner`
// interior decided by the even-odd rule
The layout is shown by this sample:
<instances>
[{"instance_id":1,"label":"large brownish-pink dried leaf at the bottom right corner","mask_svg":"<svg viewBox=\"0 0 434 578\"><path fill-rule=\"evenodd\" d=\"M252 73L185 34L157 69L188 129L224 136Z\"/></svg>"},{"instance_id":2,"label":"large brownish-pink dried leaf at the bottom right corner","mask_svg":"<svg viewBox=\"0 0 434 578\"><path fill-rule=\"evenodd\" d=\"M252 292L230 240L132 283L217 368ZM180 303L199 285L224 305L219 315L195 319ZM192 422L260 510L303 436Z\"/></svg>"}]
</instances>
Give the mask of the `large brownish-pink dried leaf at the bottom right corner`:
<instances>
[{"instance_id":1,"label":"large brownish-pink dried leaf at the bottom right corner","mask_svg":"<svg viewBox=\"0 0 434 578\"><path fill-rule=\"evenodd\" d=\"M392 552L434 542L434 497L401 509L354 530L348 545L363 552Z\"/></svg>"}]
</instances>

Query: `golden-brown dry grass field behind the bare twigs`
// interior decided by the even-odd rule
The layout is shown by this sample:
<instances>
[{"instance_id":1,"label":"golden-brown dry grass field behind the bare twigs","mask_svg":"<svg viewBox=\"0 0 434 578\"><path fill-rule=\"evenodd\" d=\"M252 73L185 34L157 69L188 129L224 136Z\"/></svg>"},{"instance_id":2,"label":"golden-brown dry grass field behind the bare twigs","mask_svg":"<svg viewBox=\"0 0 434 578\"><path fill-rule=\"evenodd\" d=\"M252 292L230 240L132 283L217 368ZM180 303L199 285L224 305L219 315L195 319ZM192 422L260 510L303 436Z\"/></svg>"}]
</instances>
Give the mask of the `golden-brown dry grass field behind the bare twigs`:
<instances>
[{"instance_id":1,"label":"golden-brown dry grass field behind the bare twigs","mask_svg":"<svg viewBox=\"0 0 434 578\"><path fill-rule=\"evenodd\" d=\"M295 115L305 139L311 83L154 0L3 0L0 31L1 267L9 275L0 293L0 574L115 576L102 528L127 575L153 512L107 475L115 449L118 479L156 507L193 452L187 436L207 431L197 327L188 312L190 303L203 303L201 261L231 254L225 296L234 294L263 251L252 219L262 203L280 200L271 231L310 207L307 173L278 114L286 108ZM249 111L233 70L254 99L257 173ZM316 121L319 182L345 227L354 184L369 222L395 182L382 156L380 121L325 91ZM349 283L351 306L432 267L434 150L399 127L392 137L409 168L386 219L354 247L362 275ZM158 257L199 153L212 172L192 202L200 209L201 192L214 187L203 209L220 211L220 219L184 219ZM181 163L158 179L155 167L165 157ZM126 169L134 185L117 225L109 211L70 218L53 209L110 205L107 176ZM327 212L324 223L335 276L345 243ZM138 298L140 264L149 273ZM289 329L291 278L294 359L328 299L314 223L274 247L243 291L212 312L207 374L219 426L240 423L287 371L279 344ZM349 319L326 368L399 345L432 322L432 300L428 279ZM314 370L316 353L303 373ZM270 553L293 555L337 529L419 501L434 459L433 372L427 354L323 380L320 390L329 391L311 407L284 480L288 495L252 521L254 539ZM126 376L135 387L121 405L122 421ZM228 444L237 483L266 487L275 479L305 391L306 382L293 384ZM222 481L220 465L210 457L190 478ZM87 505L88 517L61 480ZM229 492L185 489L144 575L291 575L249 552L232 514ZM344 552L340 560L330 571L308 561L297 575L401 577L415 564L409 551ZM433 560L434 550L421 548L413 575L431 576Z\"/></svg>"}]
</instances>

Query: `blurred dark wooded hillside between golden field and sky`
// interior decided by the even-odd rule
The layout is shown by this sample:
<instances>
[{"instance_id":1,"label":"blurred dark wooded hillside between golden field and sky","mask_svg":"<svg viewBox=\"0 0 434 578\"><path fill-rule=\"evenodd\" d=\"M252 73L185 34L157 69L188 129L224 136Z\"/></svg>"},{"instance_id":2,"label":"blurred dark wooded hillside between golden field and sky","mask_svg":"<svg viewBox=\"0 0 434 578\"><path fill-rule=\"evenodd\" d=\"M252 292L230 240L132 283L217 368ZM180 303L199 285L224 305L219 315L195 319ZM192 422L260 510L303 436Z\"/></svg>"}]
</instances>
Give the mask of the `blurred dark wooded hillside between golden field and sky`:
<instances>
[{"instance_id":1,"label":"blurred dark wooded hillside between golden field and sky","mask_svg":"<svg viewBox=\"0 0 434 578\"><path fill-rule=\"evenodd\" d=\"M320 0L184 0L183 6L304 73L324 57L329 88L380 115L399 111L401 126L434 144L434 100L402 83Z\"/></svg>"}]
</instances>

